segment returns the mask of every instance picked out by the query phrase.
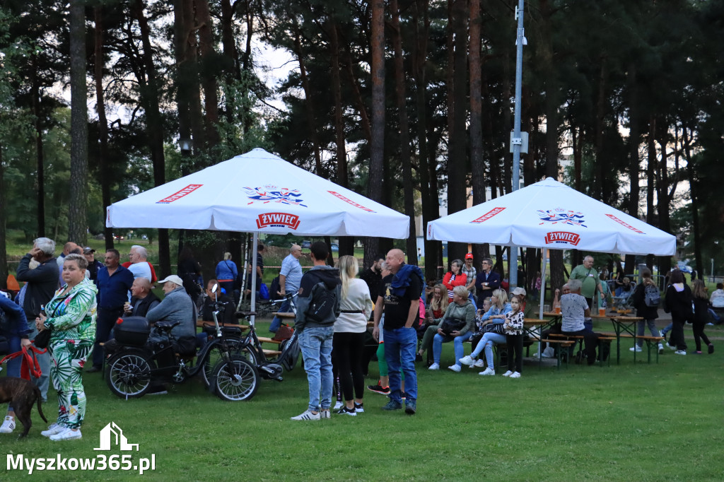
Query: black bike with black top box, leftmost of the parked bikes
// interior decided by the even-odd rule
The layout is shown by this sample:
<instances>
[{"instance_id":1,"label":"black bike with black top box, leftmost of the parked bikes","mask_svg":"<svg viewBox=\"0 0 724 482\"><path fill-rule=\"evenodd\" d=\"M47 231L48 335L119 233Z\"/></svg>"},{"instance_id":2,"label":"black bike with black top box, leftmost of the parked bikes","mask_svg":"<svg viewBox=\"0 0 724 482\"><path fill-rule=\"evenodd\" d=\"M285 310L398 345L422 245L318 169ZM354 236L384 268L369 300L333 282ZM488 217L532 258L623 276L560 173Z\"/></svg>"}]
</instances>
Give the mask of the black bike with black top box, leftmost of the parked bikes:
<instances>
[{"instance_id":1,"label":"black bike with black top box, leftmost of the parked bikes","mask_svg":"<svg viewBox=\"0 0 724 482\"><path fill-rule=\"evenodd\" d=\"M213 290L217 287L214 286ZM158 321L153 335L146 318L121 318L114 333L116 339L106 344L111 348L106 366L106 383L121 398L143 397L154 384L182 383L202 373L204 383L216 396L228 401L247 400L256 394L259 374L256 366L238 350L243 348L241 329L219 326L218 307L214 307L216 337L195 354L195 340L176 339L172 334L180 322ZM242 313L251 316L253 313ZM127 326L124 326L127 324ZM144 326L145 324L145 326ZM110 347L109 347L110 345ZM218 356L211 370L212 354ZM196 355L196 363L193 358Z\"/></svg>"}]
</instances>

